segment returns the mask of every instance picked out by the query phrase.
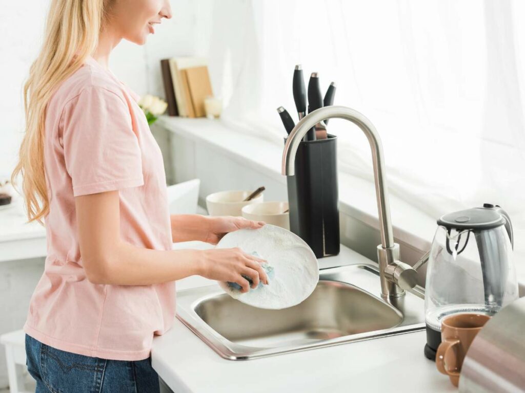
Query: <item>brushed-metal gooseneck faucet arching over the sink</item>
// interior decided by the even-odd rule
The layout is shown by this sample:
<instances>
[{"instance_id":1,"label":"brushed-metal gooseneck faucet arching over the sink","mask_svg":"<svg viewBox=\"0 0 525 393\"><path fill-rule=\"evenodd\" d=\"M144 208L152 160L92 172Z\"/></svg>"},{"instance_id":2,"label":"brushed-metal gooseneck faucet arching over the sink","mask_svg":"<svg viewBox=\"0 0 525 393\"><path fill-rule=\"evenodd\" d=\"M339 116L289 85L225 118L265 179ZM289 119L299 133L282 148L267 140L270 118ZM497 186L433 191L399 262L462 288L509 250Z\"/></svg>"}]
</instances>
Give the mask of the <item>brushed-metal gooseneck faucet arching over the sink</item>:
<instances>
[{"instance_id":1,"label":"brushed-metal gooseneck faucet arching over the sink","mask_svg":"<svg viewBox=\"0 0 525 393\"><path fill-rule=\"evenodd\" d=\"M293 128L288 137L285 149L282 152L282 174L295 174L295 156L302 137L308 130L325 119L341 118L357 125L366 135L372 149L374 167L375 193L377 211L379 212L379 226L381 230L381 244L377 246L379 260L379 274L381 280L381 296L397 298L405 294L405 289L414 288L417 274L416 269L401 262L400 249L394 243L390 206L388 205L388 191L386 189L385 162L381 139L374 125L363 114L345 106L325 106L303 117ZM417 264L421 266L419 263Z\"/></svg>"}]
</instances>

